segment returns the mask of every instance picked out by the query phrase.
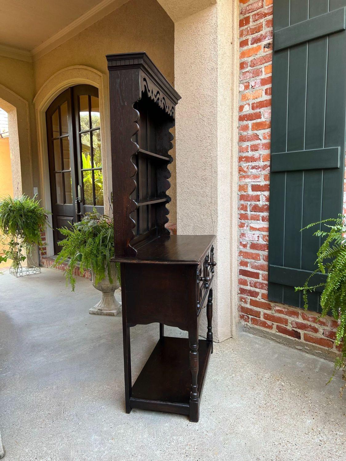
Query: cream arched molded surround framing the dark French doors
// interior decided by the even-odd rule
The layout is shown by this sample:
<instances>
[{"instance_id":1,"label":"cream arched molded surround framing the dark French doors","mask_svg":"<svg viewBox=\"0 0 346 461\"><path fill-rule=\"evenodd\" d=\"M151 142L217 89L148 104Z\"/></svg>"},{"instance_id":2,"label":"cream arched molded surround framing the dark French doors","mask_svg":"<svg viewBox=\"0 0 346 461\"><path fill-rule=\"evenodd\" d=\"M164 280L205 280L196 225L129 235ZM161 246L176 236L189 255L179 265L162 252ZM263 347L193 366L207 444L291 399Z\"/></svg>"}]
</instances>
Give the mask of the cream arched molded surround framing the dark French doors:
<instances>
[{"instance_id":1,"label":"cream arched molded surround framing the dark French doors","mask_svg":"<svg viewBox=\"0 0 346 461\"><path fill-rule=\"evenodd\" d=\"M105 213L109 211L112 189L112 164L110 155L109 129L109 91L108 77L91 67L77 65L66 67L50 77L39 89L35 98L35 117L37 130L38 160L40 168L40 186L42 204L49 211L52 210L50 199L50 181L48 165L48 143L46 111L54 99L66 88L74 85L88 84L99 90L100 120L101 120L101 156L103 166L103 197ZM52 222L50 222L52 225ZM54 254L54 240L52 229L46 231L47 255Z\"/></svg>"}]
</instances>

